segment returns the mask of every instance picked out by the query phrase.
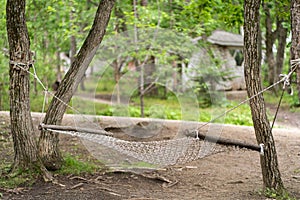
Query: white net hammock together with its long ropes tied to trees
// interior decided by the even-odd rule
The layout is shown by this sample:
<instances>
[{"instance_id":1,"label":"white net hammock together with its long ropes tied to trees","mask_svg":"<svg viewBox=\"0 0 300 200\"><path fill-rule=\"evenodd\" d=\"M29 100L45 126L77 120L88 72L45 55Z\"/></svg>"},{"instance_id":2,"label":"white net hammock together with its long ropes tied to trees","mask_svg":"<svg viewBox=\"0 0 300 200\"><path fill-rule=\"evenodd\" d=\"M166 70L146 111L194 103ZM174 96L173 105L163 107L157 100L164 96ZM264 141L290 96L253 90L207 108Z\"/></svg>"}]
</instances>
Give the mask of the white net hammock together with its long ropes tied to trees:
<instances>
[{"instance_id":1,"label":"white net hammock together with its long ropes tied to trees","mask_svg":"<svg viewBox=\"0 0 300 200\"><path fill-rule=\"evenodd\" d=\"M10 61L11 64L16 65L20 69L26 71L30 75L32 75L38 83L43 87L44 92L47 94L50 94L54 98L58 99L61 103L66 105L68 108L72 109L76 113L80 114L84 117L83 114L81 114L77 109L73 108L72 106L68 105L63 100L59 99L55 94L49 92L47 88L44 86L42 81L37 76L36 70L34 68L33 63L30 63L30 66L33 67L34 73L29 71L29 64L24 63L16 63L14 61ZM258 95L266 92L267 90L270 90L271 88L275 87L276 85L280 83L284 83L283 90L286 88L286 86L289 86L289 80L293 72L297 69L298 64L300 63L300 60L295 60L292 62L292 70L287 74L283 75L283 78L277 81L276 83L270 85L269 87L263 89L262 91L258 92L257 94L247 98L246 100L240 102L237 106L229 109L228 111L224 112L223 114L215 117L214 119L210 120L209 122L204 123L200 126L199 129L202 127L216 121L220 117L223 117L227 113L235 110L242 104L247 103L251 99L257 97ZM282 99L282 97L281 97ZM44 101L45 103L46 101ZM280 105L280 104L279 104ZM44 110L44 105L43 105ZM278 112L278 111L277 111ZM84 117L86 118L86 117ZM88 119L88 121L90 121ZM92 122L95 124L94 122ZM273 122L274 123L274 122ZM272 125L273 126L273 125ZM219 138L209 138L207 136L204 137L204 140L200 140L201 135L199 135L198 130L196 130L196 133L192 135L192 137L183 137L179 139L172 139L172 140L160 140L160 141L149 141L149 142L135 142L135 141L126 141L121 140L118 138L111 137L111 133L108 133L104 130L100 130L97 133L95 131L91 131L91 129L81 129L78 128L72 128L72 127L65 127L62 126L58 127L56 125L40 125L41 129L45 129L48 131L53 131L57 133L72 135L76 137L80 137L92 142L96 142L98 144L101 144L105 147L112 148L116 151L118 151L121 154L125 154L127 156L131 156L133 158L136 158L138 160L142 160L148 163L157 164L157 165L176 165L176 164L183 164L187 162L191 162L193 160L203 158L207 155L217 152L223 151L222 148L216 148L217 146L214 146L214 150L212 151L212 144L215 143L219 144L220 140ZM188 135L187 135L188 136ZM202 138L203 139L203 138ZM226 144L223 144L226 145ZM229 146L238 146L241 147L242 143L233 142L232 144L228 144ZM264 144L259 144L259 146L255 145L247 145L244 144L244 148L248 148L254 151L259 151L262 155L264 153Z\"/></svg>"}]
</instances>

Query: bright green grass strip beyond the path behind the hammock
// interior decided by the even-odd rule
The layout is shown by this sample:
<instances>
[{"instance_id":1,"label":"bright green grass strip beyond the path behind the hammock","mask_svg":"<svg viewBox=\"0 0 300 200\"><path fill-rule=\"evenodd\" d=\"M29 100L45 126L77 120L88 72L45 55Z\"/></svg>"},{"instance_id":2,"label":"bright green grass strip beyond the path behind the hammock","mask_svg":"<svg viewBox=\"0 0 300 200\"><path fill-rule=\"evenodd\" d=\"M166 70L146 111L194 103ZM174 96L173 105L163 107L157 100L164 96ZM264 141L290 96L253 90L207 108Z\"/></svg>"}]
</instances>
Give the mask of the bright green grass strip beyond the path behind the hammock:
<instances>
[{"instance_id":1,"label":"bright green grass strip beyond the path behind the hammock","mask_svg":"<svg viewBox=\"0 0 300 200\"><path fill-rule=\"evenodd\" d=\"M79 100L80 102L80 100ZM199 121L208 122L225 111L236 106L238 102L231 102L225 106L212 106L208 108L199 108ZM140 107L136 102L127 106L109 106L92 101L82 101L78 103L76 108L84 114L97 114L104 116L130 116L140 117ZM94 110L95 109L95 110ZM183 108L184 109L184 108ZM193 113L192 113L193 114ZM167 101L161 99L147 98L145 99L145 117L182 120L182 110L180 105L175 101ZM185 116L183 120L189 118ZM190 117L192 118L192 116ZM250 108L244 104L232 112L227 113L224 117L215 121L216 123L226 123L235 125L252 126L252 118Z\"/></svg>"}]
</instances>

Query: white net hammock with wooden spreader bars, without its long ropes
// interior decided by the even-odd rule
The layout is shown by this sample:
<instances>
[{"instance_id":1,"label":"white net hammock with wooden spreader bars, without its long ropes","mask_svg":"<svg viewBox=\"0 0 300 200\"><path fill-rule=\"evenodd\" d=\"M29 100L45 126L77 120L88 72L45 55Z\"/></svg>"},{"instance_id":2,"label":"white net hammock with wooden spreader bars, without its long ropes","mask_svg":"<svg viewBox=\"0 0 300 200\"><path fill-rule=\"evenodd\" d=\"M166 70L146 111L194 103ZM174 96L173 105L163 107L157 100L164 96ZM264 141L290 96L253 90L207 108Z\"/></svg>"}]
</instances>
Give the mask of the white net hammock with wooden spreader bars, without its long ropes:
<instances>
[{"instance_id":1,"label":"white net hammock with wooden spreader bars, without its long ropes","mask_svg":"<svg viewBox=\"0 0 300 200\"><path fill-rule=\"evenodd\" d=\"M126 141L112 137L105 130L82 129L56 125L40 125L41 129L56 133L72 135L82 139L101 144L120 154L159 166L185 164L208 155L224 151L224 145L262 151L262 146L244 144L238 141L218 139L205 136L197 132L188 132L187 137L136 142ZM215 145L215 144L219 145Z\"/></svg>"}]
</instances>

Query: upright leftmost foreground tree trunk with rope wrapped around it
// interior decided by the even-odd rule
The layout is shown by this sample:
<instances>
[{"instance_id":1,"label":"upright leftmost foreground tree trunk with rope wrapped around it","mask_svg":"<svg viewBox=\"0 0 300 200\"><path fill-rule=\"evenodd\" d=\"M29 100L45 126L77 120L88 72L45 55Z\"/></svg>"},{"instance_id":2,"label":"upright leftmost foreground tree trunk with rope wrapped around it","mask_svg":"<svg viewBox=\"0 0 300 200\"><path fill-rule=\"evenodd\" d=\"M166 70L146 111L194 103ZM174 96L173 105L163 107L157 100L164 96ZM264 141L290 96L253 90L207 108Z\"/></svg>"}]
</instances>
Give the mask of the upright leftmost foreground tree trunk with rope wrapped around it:
<instances>
[{"instance_id":1,"label":"upright leftmost foreground tree trunk with rope wrapped around it","mask_svg":"<svg viewBox=\"0 0 300 200\"><path fill-rule=\"evenodd\" d=\"M25 21L25 0L8 0L7 36L10 57L10 122L14 142L13 168L38 164L37 146L29 102L29 70L32 61ZM21 68L22 67L22 68Z\"/></svg>"}]
</instances>

